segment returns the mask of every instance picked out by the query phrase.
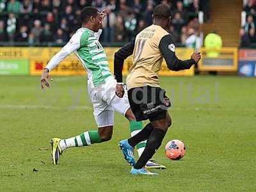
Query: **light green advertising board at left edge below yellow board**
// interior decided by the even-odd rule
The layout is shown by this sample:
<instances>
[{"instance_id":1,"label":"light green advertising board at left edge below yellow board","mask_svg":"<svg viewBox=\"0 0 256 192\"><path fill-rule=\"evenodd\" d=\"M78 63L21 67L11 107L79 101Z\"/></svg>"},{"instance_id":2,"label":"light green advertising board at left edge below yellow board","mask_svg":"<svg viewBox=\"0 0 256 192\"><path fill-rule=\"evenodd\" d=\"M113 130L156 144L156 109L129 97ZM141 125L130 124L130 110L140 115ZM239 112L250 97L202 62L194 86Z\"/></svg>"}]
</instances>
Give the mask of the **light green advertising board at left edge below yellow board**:
<instances>
[{"instance_id":1,"label":"light green advertising board at left edge below yellow board","mask_svg":"<svg viewBox=\"0 0 256 192\"><path fill-rule=\"evenodd\" d=\"M0 75L28 75L29 60L0 60Z\"/></svg>"}]
</instances>

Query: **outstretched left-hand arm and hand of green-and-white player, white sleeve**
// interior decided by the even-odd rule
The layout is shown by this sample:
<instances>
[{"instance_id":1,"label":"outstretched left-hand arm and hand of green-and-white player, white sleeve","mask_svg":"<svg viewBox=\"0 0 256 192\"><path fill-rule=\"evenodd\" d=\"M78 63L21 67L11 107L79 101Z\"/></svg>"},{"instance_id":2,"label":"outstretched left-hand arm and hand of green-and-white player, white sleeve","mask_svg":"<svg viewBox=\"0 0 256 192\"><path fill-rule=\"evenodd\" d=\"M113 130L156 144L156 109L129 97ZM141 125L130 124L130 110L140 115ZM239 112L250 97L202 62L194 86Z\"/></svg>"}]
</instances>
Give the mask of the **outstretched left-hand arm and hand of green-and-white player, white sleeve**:
<instances>
[{"instance_id":1,"label":"outstretched left-hand arm and hand of green-and-white player, white sleeve","mask_svg":"<svg viewBox=\"0 0 256 192\"><path fill-rule=\"evenodd\" d=\"M49 87L51 84L49 83L49 79L51 76L49 72L57 67L61 61L63 61L68 55L72 52L76 51L80 47L80 41L76 40L76 36L73 36L70 41L61 49L61 51L57 52L49 61L47 66L44 68L41 76L41 87L44 89L45 86Z\"/></svg>"}]
</instances>

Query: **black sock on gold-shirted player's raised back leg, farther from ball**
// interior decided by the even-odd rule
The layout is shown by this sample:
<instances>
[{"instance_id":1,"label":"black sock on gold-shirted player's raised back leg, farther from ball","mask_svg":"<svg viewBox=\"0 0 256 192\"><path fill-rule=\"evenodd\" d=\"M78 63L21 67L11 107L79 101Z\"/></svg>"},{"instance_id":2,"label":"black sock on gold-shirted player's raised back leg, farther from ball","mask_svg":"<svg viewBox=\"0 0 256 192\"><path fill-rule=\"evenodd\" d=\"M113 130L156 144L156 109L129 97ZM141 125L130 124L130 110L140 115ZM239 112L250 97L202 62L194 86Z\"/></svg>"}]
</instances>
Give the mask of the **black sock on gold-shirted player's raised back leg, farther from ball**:
<instances>
[{"instance_id":1,"label":"black sock on gold-shirted player's raised back leg, farther from ball","mask_svg":"<svg viewBox=\"0 0 256 192\"><path fill-rule=\"evenodd\" d=\"M135 147L138 143L140 143L141 141L145 141L148 139L148 137L150 136L150 133L152 132L153 127L152 125L149 123L147 124L144 129L142 129L140 132L138 132L138 134L134 135L133 137L128 139L128 143L132 146Z\"/></svg>"}]
</instances>

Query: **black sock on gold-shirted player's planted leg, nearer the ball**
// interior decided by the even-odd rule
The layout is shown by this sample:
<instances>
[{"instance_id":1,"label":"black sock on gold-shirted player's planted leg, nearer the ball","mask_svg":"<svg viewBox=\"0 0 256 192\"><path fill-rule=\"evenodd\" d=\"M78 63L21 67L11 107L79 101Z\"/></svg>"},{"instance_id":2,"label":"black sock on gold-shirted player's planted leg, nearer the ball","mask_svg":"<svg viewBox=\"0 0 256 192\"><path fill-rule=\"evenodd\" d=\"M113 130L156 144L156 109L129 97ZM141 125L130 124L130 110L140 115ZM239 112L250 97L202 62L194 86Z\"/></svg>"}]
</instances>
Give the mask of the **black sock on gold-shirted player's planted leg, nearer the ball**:
<instances>
[{"instance_id":1,"label":"black sock on gold-shirted player's planted leg, nearer the ball","mask_svg":"<svg viewBox=\"0 0 256 192\"><path fill-rule=\"evenodd\" d=\"M148 137L145 150L140 156L140 159L136 162L134 168L140 169L145 166L148 160L156 153L156 150L160 147L166 132L163 129L153 129Z\"/></svg>"}]
</instances>

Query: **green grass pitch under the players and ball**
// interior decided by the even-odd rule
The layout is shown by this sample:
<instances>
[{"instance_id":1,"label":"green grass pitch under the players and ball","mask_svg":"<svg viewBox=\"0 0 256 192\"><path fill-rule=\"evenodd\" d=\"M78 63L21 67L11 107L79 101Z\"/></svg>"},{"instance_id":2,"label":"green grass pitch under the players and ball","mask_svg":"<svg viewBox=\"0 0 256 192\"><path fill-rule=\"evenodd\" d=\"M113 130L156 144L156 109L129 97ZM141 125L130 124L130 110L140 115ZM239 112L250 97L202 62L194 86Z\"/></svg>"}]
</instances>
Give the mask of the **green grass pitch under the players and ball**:
<instances>
[{"instance_id":1,"label":"green grass pitch under the players and ball","mask_svg":"<svg viewBox=\"0 0 256 192\"><path fill-rule=\"evenodd\" d=\"M118 149L118 141L129 136L120 115L113 140L70 148L58 166L51 164L52 137L96 129L86 77L55 77L42 92L40 77L0 76L0 191L255 191L255 82L161 77L172 95L173 125L154 159L168 169L143 177L129 175ZM176 138L188 151L170 161L164 144Z\"/></svg>"}]
</instances>

